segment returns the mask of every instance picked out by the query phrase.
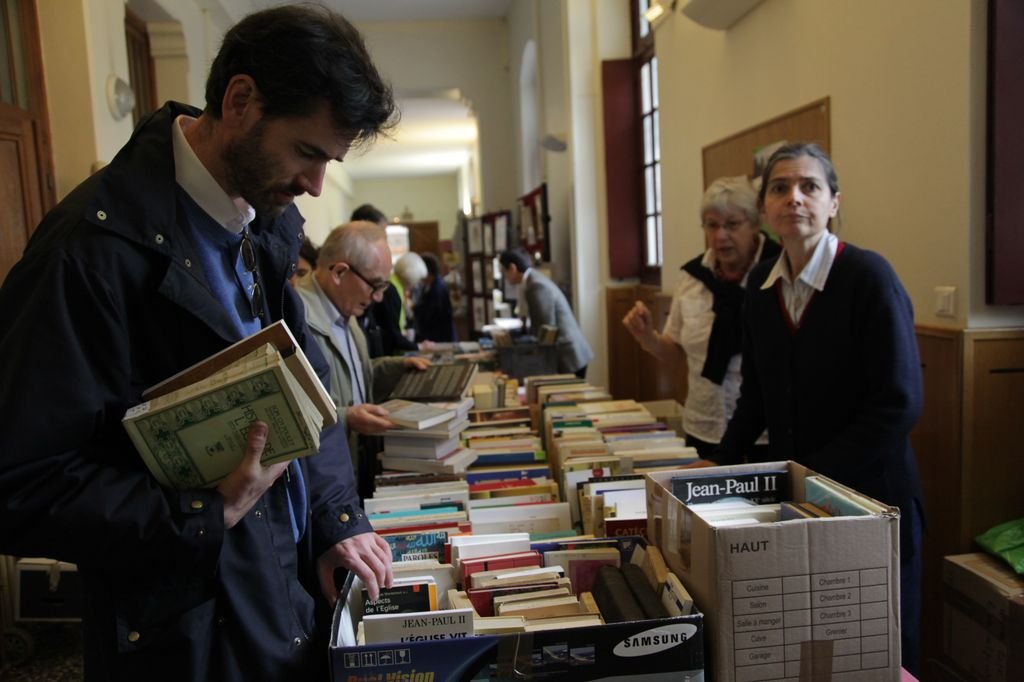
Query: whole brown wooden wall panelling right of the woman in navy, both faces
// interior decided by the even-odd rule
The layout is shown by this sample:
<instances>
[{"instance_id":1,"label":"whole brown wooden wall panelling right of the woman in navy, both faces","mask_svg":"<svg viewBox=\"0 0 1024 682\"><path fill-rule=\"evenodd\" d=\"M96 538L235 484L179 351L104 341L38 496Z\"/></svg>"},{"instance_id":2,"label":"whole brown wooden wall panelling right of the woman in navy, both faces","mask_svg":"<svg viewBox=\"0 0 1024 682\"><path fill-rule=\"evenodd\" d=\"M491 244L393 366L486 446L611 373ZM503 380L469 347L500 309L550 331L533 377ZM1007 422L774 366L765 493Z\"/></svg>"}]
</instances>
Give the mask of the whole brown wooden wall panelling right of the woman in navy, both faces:
<instances>
[{"instance_id":1,"label":"whole brown wooden wall panelling right of the woman in navy, both faces","mask_svg":"<svg viewBox=\"0 0 1024 682\"><path fill-rule=\"evenodd\" d=\"M924 410L911 433L928 529L922 679L940 679L942 559L1024 516L1024 330L918 329Z\"/></svg>"}]
</instances>

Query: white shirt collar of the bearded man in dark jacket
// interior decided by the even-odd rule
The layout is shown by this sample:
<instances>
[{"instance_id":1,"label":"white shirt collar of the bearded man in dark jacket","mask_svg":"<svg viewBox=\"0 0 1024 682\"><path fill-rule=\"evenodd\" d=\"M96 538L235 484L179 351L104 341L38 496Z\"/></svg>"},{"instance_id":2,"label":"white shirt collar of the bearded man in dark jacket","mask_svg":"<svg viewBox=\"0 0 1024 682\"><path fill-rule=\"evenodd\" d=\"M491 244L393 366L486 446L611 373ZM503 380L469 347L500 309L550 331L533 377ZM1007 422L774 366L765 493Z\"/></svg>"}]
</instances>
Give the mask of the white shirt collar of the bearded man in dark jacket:
<instances>
[{"instance_id":1,"label":"white shirt collar of the bearded man in dark jacket","mask_svg":"<svg viewBox=\"0 0 1024 682\"><path fill-rule=\"evenodd\" d=\"M197 119L180 115L171 126L174 148L174 179L207 215L223 225L224 229L239 235L256 217L256 210L241 197L231 199L218 184L203 162L196 156L185 139L185 128Z\"/></svg>"}]
</instances>

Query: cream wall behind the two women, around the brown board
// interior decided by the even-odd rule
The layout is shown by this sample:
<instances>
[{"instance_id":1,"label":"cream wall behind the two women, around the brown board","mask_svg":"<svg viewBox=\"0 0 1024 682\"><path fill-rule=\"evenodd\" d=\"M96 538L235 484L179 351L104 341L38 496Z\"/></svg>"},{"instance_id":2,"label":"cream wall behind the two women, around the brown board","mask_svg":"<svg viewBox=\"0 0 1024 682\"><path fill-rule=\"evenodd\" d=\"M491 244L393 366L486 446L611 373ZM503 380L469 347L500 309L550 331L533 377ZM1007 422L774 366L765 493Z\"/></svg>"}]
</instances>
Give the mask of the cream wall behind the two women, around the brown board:
<instances>
[{"instance_id":1,"label":"cream wall behind the two women, around the brown board","mask_svg":"<svg viewBox=\"0 0 1024 682\"><path fill-rule=\"evenodd\" d=\"M841 237L893 264L919 324L1024 322L978 293L984 4L773 1L728 32L670 16L655 36L666 263L702 248L701 147L827 95ZM666 288L673 275L663 270ZM934 314L944 285L956 287L955 318Z\"/></svg>"}]
</instances>

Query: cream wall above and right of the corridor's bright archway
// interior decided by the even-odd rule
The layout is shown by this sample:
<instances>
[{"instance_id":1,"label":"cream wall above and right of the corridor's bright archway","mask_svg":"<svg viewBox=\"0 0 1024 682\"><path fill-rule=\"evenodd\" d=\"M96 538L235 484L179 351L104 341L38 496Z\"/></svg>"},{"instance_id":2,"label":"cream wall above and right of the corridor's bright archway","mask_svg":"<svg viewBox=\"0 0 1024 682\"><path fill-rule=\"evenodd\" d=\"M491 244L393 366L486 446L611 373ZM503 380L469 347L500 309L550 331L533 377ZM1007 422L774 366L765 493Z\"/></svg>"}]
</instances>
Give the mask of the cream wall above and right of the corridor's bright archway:
<instances>
[{"instance_id":1,"label":"cream wall above and right of the corridor's bright archway","mask_svg":"<svg viewBox=\"0 0 1024 682\"><path fill-rule=\"evenodd\" d=\"M479 210L511 209L518 196L517 146L505 22L365 23L358 29L397 92L459 88L469 99L480 131Z\"/></svg>"}]
</instances>

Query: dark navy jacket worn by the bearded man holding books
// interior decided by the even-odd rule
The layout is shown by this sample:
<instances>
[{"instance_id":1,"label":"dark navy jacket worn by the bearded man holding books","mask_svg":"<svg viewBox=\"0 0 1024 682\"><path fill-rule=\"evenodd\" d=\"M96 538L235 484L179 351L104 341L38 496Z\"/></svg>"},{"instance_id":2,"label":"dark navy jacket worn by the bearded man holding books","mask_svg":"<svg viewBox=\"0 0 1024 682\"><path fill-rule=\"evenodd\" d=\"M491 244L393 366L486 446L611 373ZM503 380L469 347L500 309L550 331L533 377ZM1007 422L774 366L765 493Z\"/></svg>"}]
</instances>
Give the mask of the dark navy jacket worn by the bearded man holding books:
<instances>
[{"instance_id":1,"label":"dark navy jacket worn by the bearded man holding books","mask_svg":"<svg viewBox=\"0 0 1024 682\"><path fill-rule=\"evenodd\" d=\"M87 680L312 679L326 660L314 560L370 530L344 434L300 460L296 545L281 478L232 529L216 491L157 484L121 418L142 390L236 340L182 228L169 103L51 211L0 289L0 553L78 564ZM251 226L269 316L307 342L286 279L290 207Z\"/></svg>"}]
</instances>

